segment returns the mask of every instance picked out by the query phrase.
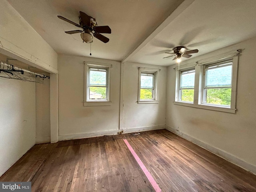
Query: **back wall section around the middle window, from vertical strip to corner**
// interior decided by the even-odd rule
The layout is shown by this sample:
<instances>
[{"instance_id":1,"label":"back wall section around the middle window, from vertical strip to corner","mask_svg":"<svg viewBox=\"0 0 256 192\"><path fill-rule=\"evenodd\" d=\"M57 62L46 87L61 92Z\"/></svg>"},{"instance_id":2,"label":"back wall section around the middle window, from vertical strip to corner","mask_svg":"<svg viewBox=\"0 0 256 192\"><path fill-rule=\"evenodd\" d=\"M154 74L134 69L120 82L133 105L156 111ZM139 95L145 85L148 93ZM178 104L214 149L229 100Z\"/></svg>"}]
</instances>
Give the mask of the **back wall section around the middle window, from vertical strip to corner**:
<instances>
[{"instance_id":1,"label":"back wall section around the middle window, from vertical strip to corner","mask_svg":"<svg viewBox=\"0 0 256 192\"><path fill-rule=\"evenodd\" d=\"M158 72L159 103L138 104L138 67L160 69ZM137 63L124 63L124 132L164 128L166 117L167 68Z\"/></svg>"}]
</instances>

